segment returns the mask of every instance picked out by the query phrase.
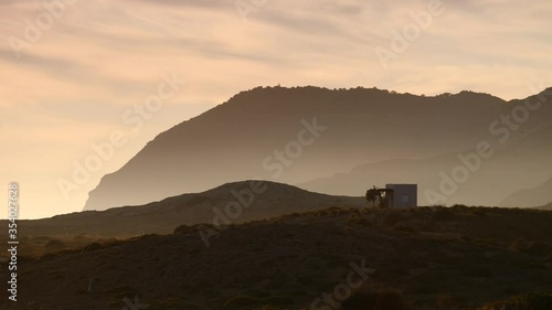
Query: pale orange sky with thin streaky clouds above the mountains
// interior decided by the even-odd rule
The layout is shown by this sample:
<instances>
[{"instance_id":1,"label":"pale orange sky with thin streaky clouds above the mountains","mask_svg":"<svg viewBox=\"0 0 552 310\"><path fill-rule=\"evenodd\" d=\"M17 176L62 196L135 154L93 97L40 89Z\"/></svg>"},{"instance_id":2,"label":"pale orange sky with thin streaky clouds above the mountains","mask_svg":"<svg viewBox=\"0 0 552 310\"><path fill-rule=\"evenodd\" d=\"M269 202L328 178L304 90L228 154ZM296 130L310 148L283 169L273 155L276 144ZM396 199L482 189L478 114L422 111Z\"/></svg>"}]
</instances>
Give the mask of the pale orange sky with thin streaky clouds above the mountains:
<instances>
[{"instance_id":1,"label":"pale orange sky with thin streaky clouds above the mountains","mask_svg":"<svg viewBox=\"0 0 552 310\"><path fill-rule=\"evenodd\" d=\"M256 86L524 98L552 86L551 13L548 0L2 0L0 200L17 182L20 218L78 212L158 133Z\"/></svg>"}]
</instances>

